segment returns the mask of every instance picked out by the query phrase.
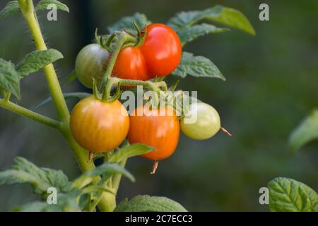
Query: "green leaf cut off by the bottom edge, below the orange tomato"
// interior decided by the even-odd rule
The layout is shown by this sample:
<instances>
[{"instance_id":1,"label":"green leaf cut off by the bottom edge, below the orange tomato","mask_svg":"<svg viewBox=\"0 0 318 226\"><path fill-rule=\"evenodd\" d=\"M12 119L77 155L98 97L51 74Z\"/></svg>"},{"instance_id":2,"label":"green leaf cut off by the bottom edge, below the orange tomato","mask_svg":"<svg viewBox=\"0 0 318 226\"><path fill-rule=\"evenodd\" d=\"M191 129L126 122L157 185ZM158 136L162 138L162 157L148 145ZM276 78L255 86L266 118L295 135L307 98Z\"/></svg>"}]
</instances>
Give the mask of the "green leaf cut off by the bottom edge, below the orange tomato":
<instances>
[{"instance_id":1,"label":"green leaf cut off by the bottom edge, below the orange tomato","mask_svg":"<svg viewBox=\"0 0 318 226\"><path fill-rule=\"evenodd\" d=\"M130 201L125 199L115 212L187 212L187 210L170 198L158 196L136 196Z\"/></svg>"}]
</instances>

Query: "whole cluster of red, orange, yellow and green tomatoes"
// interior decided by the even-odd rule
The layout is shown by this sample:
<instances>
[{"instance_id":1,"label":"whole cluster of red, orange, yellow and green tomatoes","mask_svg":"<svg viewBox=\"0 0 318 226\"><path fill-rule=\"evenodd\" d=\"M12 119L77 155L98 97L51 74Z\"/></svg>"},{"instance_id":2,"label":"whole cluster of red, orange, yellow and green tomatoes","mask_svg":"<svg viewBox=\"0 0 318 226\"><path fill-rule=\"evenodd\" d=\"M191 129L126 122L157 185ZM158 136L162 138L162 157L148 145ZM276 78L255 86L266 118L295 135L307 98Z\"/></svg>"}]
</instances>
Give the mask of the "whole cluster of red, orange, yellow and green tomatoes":
<instances>
[{"instance_id":1,"label":"whole cluster of red, orange, yellow and green tomatoes","mask_svg":"<svg viewBox=\"0 0 318 226\"><path fill-rule=\"evenodd\" d=\"M143 43L121 49L112 76L147 81L167 76L181 59L182 47L176 32L167 25L153 23L146 27ZM76 58L76 74L88 88L102 80L111 54L100 44L89 44ZM91 153L117 148L125 138L129 143L143 143L154 148L142 155L149 160L164 160L175 152L180 130L189 138L204 140L220 127L216 109L203 102L192 103L179 119L172 107L141 105L129 114L121 102L100 100L92 95L78 102L71 112L71 132L79 145ZM190 119L195 118L194 121Z\"/></svg>"}]
</instances>

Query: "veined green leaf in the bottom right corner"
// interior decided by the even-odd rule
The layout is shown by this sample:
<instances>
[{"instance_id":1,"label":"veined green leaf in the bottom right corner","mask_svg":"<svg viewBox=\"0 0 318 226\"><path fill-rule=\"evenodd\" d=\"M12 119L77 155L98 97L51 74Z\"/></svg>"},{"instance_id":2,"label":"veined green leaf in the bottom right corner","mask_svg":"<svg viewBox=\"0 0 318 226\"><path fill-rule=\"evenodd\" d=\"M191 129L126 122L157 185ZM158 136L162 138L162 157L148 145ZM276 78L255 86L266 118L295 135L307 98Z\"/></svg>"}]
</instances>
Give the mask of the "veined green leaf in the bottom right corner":
<instances>
[{"instance_id":1,"label":"veined green leaf in the bottom right corner","mask_svg":"<svg viewBox=\"0 0 318 226\"><path fill-rule=\"evenodd\" d=\"M306 184L277 177L269 182L269 208L273 212L317 212L317 193Z\"/></svg>"}]
</instances>

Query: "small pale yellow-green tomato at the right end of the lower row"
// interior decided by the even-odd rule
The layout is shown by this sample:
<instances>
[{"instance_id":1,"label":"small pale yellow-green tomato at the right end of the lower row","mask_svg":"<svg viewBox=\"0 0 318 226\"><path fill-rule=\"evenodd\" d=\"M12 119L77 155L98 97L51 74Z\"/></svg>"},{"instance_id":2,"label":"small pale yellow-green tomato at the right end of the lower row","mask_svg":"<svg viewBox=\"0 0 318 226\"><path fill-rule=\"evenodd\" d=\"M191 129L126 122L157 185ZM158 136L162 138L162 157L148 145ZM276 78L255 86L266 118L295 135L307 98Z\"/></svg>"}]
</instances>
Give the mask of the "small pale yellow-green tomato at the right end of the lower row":
<instances>
[{"instance_id":1,"label":"small pale yellow-green tomato at the right end of the lower row","mask_svg":"<svg viewBox=\"0 0 318 226\"><path fill-rule=\"evenodd\" d=\"M194 140L206 140L220 130L220 116L214 107L204 102L189 106L189 114L181 120L181 131Z\"/></svg>"}]
</instances>

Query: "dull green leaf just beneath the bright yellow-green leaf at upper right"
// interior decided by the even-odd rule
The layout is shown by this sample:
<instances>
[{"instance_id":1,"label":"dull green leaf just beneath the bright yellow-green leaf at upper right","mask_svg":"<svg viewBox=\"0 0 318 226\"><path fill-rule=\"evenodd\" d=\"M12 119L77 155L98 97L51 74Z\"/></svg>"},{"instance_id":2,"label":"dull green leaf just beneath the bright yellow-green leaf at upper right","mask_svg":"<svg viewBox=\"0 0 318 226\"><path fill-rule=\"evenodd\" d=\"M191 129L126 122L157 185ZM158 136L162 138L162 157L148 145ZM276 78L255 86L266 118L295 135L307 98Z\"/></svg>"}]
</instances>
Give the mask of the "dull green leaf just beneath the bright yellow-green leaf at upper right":
<instances>
[{"instance_id":1,"label":"dull green leaf just beneath the bright yellow-green leaf at upper right","mask_svg":"<svg viewBox=\"0 0 318 226\"><path fill-rule=\"evenodd\" d=\"M193 26L185 25L184 27L179 28L177 33L182 45L184 45L187 42L192 42L197 37L211 33L226 32L228 30L228 28L217 28L215 25L201 23Z\"/></svg>"}]
</instances>

